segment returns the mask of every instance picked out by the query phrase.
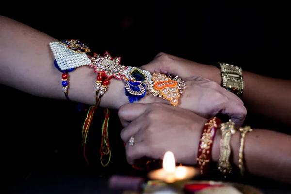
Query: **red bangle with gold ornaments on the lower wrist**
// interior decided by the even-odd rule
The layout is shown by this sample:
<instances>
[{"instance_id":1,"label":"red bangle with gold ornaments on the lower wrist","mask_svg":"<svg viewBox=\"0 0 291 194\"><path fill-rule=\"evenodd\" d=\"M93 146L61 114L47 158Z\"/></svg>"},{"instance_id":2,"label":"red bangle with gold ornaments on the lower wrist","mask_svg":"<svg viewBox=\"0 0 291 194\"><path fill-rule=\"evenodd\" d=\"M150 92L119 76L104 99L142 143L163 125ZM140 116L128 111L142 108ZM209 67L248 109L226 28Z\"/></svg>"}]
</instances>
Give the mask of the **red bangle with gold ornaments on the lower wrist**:
<instances>
[{"instance_id":1,"label":"red bangle with gold ornaments on the lower wrist","mask_svg":"<svg viewBox=\"0 0 291 194\"><path fill-rule=\"evenodd\" d=\"M217 128L220 124L221 120L214 117L205 123L202 130L197 154L197 164L201 175L208 170L209 162L211 159L213 140Z\"/></svg>"}]
</instances>

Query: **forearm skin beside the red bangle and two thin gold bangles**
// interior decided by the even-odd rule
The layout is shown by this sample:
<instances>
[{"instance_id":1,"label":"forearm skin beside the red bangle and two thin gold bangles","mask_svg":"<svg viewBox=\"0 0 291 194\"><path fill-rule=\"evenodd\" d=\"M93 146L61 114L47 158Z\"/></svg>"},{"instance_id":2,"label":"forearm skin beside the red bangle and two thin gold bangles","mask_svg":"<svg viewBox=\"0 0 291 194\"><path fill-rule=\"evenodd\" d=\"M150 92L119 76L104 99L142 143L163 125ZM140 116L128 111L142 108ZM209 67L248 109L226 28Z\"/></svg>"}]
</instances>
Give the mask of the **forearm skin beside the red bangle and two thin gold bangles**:
<instances>
[{"instance_id":1,"label":"forearm skin beside the red bangle and two thin gold bangles","mask_svg":"<svg viewBox=\"0 0 291 194\"><path fill-rule=\"evenodd\" d=\"M219 160L220 134L214 140L212 159ZM232 159L239 166L240 134L231 137ZM253 129L244 139L244 166L246 170L264 178L275 179L291 184L291 136L283 133ZM246 173L245 173L246 174Z\"/></svg>"}]
</instances>

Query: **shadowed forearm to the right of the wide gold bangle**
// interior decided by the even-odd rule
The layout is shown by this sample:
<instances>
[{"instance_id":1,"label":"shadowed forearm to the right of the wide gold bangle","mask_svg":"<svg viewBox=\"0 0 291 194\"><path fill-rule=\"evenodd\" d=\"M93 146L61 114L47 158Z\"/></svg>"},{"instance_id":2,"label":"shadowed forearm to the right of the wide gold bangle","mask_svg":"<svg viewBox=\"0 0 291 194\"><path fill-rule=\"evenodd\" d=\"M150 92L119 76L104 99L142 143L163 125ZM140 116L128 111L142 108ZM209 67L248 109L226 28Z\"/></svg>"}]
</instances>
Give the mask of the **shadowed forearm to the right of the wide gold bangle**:
<instances>
[{"instance_id":1,"label":"shadowed forearm to the right of the wide gold bangle","mask_svg":"<svg viewBox=\"0 0 291 194\"><path fill-rule=\"evenodd\" d=\"M216 72L218 81L220 70L217 68ZM242 71L242 75L245 84L242 101L247 110L291 126L291 81L247 71ZM218 83L221 84L221 79Z\"/></svg>"}]
</instances>

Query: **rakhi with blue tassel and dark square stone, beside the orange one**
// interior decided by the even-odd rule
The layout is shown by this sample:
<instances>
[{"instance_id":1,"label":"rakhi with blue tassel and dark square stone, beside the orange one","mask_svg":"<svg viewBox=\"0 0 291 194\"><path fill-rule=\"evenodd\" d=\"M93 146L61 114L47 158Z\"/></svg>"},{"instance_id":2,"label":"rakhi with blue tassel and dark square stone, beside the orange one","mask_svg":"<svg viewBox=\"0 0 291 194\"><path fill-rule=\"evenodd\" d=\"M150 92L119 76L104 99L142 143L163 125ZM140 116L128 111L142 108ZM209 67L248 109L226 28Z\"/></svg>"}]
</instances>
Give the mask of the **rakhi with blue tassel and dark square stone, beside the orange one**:
<instances>
[{"instance_id":1,"label":"rakhi with blue tassel and dark square stone, beside the orange one","mask_svg":"<svg viewBox=\"0 0 291 194\"><path fill-rule=\"evenodd\" d=\"M128 67L124 70L125 78L125 95L128 96L129 102L135 102L146 96L146 88L151 80L151 74L137 67Z\"/></svg>"}]
</instances>

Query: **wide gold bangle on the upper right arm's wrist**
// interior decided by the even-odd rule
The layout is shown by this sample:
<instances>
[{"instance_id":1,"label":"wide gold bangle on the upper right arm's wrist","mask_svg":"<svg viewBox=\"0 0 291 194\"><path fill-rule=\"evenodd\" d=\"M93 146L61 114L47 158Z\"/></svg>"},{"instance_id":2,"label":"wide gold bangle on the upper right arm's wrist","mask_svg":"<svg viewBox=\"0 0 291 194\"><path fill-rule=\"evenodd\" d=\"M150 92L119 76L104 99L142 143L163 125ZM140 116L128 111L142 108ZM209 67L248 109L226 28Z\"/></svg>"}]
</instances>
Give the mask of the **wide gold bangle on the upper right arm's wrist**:
<instances>
[{"instance_id":1,"label":"wide gold bangle on the upper right arm's wrist","mask_svg":"<svg viewBox=\"0 0 291 194\"><path fill-rule=\"evenodd\" d=\"M219 63L222 76L222 87L241 96L244 89L242 68L230 64Z\"/></svg>"}]
</instances>

